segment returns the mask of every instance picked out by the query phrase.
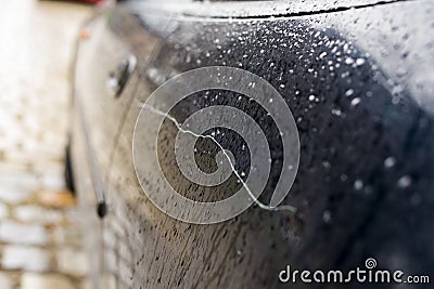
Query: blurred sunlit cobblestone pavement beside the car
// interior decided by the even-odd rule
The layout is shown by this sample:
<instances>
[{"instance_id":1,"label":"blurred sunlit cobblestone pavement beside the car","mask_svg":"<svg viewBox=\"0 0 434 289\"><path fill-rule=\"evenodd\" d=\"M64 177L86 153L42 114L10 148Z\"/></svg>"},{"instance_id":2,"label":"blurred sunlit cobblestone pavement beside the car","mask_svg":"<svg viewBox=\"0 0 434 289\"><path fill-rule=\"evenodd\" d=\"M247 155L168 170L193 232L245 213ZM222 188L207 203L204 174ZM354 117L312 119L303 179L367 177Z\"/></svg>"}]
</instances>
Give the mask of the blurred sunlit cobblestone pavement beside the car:
<instances>
[{"instance_id":1,"label":"blurred sunlit cobblestone pavement beside the car","mask_svg":"<svg viewBox=\"0 0 434 289\"><path fill-rule=\"evenodd\" d=\"M63 153L71 57L89 12L59 1L1 1L1 289L88 288Z\"/></svg>"}]
</instances>

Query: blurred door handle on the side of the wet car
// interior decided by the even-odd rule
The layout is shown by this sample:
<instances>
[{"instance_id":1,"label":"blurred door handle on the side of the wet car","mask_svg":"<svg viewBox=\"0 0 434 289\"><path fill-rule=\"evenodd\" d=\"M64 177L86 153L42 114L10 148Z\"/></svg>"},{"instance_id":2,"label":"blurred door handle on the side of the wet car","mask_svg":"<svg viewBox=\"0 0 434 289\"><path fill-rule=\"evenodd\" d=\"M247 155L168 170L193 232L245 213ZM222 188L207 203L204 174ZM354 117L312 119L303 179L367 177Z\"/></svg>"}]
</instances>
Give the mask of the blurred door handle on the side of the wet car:
<instances>
[{"instance_id":1,"label":"blurred door handle on the side of the wet car","mask_svg":"<svg viewBox=\"0 0 434 289\"><path fill-rule=\"evenodd\" d=\"M108 73L106 81L107 90L114 97L119 97L124 91L125 84L136 68L136 56L129 54L125 57L114 70Z\"/></svg>"}]
</instances>

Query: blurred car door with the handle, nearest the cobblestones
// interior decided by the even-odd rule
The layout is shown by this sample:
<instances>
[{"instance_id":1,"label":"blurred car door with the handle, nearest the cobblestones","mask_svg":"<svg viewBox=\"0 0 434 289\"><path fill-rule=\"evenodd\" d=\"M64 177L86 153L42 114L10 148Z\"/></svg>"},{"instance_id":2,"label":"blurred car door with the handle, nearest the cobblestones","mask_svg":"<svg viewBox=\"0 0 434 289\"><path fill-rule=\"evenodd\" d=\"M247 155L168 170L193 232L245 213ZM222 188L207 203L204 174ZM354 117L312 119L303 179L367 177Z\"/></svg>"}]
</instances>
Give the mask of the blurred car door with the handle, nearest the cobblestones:
<instances>
[{"instance_id":1,"label":"blurred car door with the handle, nearest the cobblestones","mask_svg":"<svg viewBox=\"0 0 434 289\"><path fill-rule=\"evenodd\" d=\"M101 219L106 213L106 179L114 147L139 78L135 41L129 36L138 26L123 11L110 14L98 8L81 28L76 52L71 147L95 288L113 288L114 283L104 275L107 260Z\"/></svg>"}]
</instances>

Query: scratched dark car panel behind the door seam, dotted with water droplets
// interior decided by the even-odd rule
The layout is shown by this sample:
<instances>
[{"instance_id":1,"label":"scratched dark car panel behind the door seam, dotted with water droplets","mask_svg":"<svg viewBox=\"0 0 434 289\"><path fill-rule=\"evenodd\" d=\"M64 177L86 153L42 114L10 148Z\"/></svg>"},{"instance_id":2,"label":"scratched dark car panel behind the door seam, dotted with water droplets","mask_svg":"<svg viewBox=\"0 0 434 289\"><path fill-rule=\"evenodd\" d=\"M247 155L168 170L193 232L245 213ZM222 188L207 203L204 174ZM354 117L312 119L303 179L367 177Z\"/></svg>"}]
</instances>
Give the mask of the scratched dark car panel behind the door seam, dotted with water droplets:
<instances>
[{"instance_id":1,"label":"scratched dark car panel behind the door seam, dotted with water droplets","mask_svg":"<svg viewBox=\"0 0 434 289\"><path fill-rule=\"evenodd\" d=\"M406 56L411 52L394 43L405 37L411 43L406 45L418 48L418 54L426 60L424 69L432 69L432 47L425 45L429 40L420 40L422 31L433 29L426 21L432 2L348 1L339 6L282 1L182 6L144 2L127 1L107 12L116 15L125 9L140 19L141 36L135 38L133 54L139 65L146 60L140 66L107 180L110 213L104 222L112 242L106 253L112 255L110 274L118 288L278 288L288 286L279 279L288 265L350 270L363 266L371 255L385 265L396 265L393 255L406 268L430 271L432 250L422 253L412 248L420 246L417 244L430 247L432 237L423 220L433 212L433 119L429 104L420 102L430 101L423 95L432 82L422 79L420 91L411 89L413 61ZM401 22L409 17L411 24ZM391 32L399 27L403 35ZM409 30L413 35L406 34ZM384 40L385 35L390 39ZM386 48L385 56L379 47ZM407 71L405 79L395 75L396 64ZM212 66L234 67L260 77L291 109L299 133L301 158L291 194L283 202L285 210L267 206L284 169L283 136L271 119L275 116L257 102L213 88L193 91L170 111L143 109L165 81ZM219 148L232 148L234 160L241 162L239 175L232 172L232 183L224 189L192 184L181 176L171 153L177 134L187 131L179 128L189 115L214 105L247 113L265 131L271 147L265 161L271 163L271 173L259 202L233 219L213 224L176 220L150 197L152 192L165 194L162 191L168 188L164 180L155 181L159 170L179 194L204 202L229 197L230 188L242 186L242 171L252 172L250 154L243 153L252 143L245 144L233 130L213 127L212 117L219 117L215 114L203 120L205 124L209 121L207 132L219 129L229 137L221 139L221 147L197 142L195 161L202 171L213 173ZM153 114L166 121L155 142L153 122L138 121ZM159 167L148 175L137 171L140 163L133 146L138 130L143 143L156 143ZM146 154L144 146L135 149ZM149 154L140 160L145 163L152 157ZM410 220L420 222L414 226ZM408 234L416 237L409 239Z\"/></svg>"}]
</instances>

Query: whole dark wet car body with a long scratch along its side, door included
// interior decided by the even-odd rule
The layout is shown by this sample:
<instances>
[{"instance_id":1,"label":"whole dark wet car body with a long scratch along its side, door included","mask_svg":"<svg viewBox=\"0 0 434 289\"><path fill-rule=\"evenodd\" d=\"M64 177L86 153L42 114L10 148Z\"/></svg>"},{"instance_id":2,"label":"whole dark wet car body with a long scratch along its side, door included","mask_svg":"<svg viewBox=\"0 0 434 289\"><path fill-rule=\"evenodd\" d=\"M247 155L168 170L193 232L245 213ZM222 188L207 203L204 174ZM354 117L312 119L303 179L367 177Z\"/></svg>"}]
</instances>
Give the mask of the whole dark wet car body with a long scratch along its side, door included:
<instances>
[{"instance_id":1,"label":"whole dark wet car body with a long scratch along its side, door included","mask_svg":"<svg viewBox=\"0 0 434 289\"><path fill-rule=\"evenodd\" d=\"M78 44L72 134L76 188L94 232L94 280L102 288L107 280L115 288L279 288L289 286L279 281L286 265L349 271L368 258L432 276L433 9L429 0L100 9ZM216 65L266 79L294 115L301 160L284 203L295 214L252 206L227 222L194 225L164 214L143 193L132 159L143 102L171 77ZM129 68L125 86L107 87ZM210 91L187 98L174 116L182 122L216 104L247 111L267 132L272 173L260 200L269 202L282 168L267 111L234 92ZM166 123L158 142L165 173L190 198L227 197L197 195L200 187L177 179L174 133ZM242 140L221 142L248 163ZM213 156L197 159L209 169Z\"/></svg>"}]
</instances>

